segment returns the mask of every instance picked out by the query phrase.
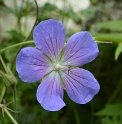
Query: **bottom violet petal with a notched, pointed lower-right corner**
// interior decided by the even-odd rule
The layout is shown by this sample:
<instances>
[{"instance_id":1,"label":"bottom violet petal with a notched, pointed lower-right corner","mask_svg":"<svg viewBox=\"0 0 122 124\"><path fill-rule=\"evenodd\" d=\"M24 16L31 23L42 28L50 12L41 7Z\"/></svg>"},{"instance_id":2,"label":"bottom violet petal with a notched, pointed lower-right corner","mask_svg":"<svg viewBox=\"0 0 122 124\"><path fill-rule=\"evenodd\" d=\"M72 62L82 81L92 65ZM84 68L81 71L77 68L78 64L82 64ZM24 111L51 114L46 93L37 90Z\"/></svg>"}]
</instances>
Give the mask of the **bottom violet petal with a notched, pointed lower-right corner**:
<instances>
[{"instance_id":1,"label":"bottom violet petal with a notched, pointed lower-right corner","mask_svg":"<svg viewBox=\"0 0 122 124\"><path fill-rule=\"evenodd\" d=\"M53 71L37 89L37 100L48 111L58 111L65 106L60 77Z\"/></svg>"}]
</instances>

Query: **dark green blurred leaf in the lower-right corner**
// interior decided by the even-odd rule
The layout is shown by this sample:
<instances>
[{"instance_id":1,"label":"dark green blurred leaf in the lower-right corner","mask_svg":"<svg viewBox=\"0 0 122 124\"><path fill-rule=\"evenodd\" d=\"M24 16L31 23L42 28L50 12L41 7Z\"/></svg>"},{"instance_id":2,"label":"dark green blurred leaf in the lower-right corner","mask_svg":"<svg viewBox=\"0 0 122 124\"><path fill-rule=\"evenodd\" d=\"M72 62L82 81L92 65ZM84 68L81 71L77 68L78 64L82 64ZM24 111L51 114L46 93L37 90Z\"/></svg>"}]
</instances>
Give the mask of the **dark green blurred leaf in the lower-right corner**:
<instances>
[{"instance_id":1,"label":"dark green blurred leaf in the lower-right corner","mask_svg":"<svg viewBox=\"0 0 122 124\"><path fill-rule=\"evenodd\" d=\"M122 112L122 104L107 104L104 109L97 112L97 116L116 116Z\"/></svg>"}]
</instances>

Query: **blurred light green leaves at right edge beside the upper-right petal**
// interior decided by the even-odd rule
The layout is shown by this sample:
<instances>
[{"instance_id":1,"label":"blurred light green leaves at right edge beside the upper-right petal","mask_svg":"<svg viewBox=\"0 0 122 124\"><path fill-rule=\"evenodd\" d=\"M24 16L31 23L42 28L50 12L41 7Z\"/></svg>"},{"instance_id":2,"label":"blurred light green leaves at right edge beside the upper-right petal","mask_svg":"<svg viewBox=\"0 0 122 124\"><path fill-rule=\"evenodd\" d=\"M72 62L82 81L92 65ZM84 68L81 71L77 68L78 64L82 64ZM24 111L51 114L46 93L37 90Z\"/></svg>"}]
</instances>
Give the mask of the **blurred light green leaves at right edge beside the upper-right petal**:
<instances>
[{"instance_id":1,"label":"blurred light green leaves at right edge beside the upper-right petal","mask_svg":"<svg viewBox=\"0 0 122 124\"><path fill-rule=\"evenodd\" d=\"M112 41L118 43L115 51L115 60L118 59L122 51L122 20L112 20L93 24L91 32L97 40ZM104 31L105 33L95 33L96 31Z\"/></svg>"}]
</instances>

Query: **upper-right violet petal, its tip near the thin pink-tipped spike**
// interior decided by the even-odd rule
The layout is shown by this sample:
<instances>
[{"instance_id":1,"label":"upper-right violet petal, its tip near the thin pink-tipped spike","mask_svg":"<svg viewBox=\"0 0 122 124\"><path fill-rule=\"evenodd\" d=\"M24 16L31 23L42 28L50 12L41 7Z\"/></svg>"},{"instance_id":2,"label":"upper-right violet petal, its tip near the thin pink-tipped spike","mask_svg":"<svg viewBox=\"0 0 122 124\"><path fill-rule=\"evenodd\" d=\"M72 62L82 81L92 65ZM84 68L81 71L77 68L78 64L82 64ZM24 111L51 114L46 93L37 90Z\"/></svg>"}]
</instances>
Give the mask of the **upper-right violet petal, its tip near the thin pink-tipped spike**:
<instances>
[{"instance_id":1,"label":"upper-right violet petal, its tip near the thin pink-tipped spike","mask_svg":"<svg viewBox=\"0 0 122 124\"><path fill-rule=\"evenodd\" d=\"M65 49L65 64L80 66L91 62L98 55L98 46L87 31L82 31L70 37Z\"/></svg>"}]
</instances>

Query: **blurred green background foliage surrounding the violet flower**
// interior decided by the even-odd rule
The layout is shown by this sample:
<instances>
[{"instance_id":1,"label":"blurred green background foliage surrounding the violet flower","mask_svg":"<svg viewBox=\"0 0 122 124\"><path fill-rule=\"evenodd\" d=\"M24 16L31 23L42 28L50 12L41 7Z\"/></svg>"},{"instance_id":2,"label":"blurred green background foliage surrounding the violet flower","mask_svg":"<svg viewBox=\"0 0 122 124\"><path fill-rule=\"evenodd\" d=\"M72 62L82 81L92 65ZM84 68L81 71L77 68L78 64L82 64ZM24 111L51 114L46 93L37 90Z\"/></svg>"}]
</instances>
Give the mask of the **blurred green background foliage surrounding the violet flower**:
<instances>
[{"instance_id":1,"label":"blurred green background foliage surrounding the violet flower","mask_svg":"<svg viewBox=\"0 0 122 124\"><path fill-rule=\"evenodd\" d=\"M44 0L43 0L44 1ZM72 0L71 0L72 1ZM55 3L61 3L61 7ZM122 124L122 0L90 0L86 9L71 6L68 0L0 0L0 50L32 40L33 27L42 20L57 19L67 31L67 39L78 31L90 31L98 41L99 56L83 68L91 71L100 83L100 92L85 105L72 102L58 112L44 110L36 100L39 82L27 84L18 78L15 57L20 47L1 53L0 92L7 87L2 103L13 101L9 108L19 124ZM80 2L77 4L81 4ZM32 46L34 44L29 44ZM21 46L22 47L25 47ZM0 124L11 124L0 112Z\"/></svg>"}]
</instances>

